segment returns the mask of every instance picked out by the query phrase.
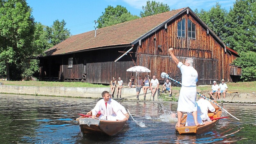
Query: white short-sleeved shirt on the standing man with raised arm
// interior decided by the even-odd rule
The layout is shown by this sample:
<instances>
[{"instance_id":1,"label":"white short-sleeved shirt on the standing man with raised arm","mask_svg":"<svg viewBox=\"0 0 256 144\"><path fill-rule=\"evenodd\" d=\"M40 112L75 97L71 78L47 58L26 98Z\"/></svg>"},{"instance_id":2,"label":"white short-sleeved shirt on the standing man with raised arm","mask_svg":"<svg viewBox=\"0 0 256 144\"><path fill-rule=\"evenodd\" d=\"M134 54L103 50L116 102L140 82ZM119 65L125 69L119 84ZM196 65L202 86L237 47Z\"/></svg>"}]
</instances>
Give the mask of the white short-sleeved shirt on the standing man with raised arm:
<instances>
[{"instance_id":1,"label":"white short-sleeved shirt on the standing man with raised arm","mask_svg":"<svg viewBox=\"0 0 256 144\"><path fill-rule=\"evenodd\" d=\"M180 68L182 74L182 86L196 86L196 82L198 81L198 74L196 69L192 66L183 65L182 62L179 62L177 67Z\"/></svg>"}]
</instances>

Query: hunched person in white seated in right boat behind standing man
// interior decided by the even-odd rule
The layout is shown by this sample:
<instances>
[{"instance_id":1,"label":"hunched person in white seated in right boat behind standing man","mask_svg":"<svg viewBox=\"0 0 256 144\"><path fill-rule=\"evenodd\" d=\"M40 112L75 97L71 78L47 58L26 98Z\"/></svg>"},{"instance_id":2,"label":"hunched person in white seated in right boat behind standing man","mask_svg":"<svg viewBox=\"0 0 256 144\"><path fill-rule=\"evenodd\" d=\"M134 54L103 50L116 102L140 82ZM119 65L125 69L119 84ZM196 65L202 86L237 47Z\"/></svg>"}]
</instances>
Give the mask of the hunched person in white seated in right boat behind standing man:
<instances>
[{"instance_id":1,"label":"hunched person in white seated in right boat behind standing man","mask_svg":"<svg viewBox=\"0 0 256 144\"><path fill-rule=\"evenodd\" d=\"M202 95L205 96L204 94ZM210 121L210 118L208 116L208 109L211 112L213 112L213 114L215 114L215 108L212 106L212 104L208 100L205 100L204 97L202 97L201 95L199 100L196 101L196 103L197 103L197 108L200 108L201 118L205 124L206 121Z\"/></svg>"}]
</instances>

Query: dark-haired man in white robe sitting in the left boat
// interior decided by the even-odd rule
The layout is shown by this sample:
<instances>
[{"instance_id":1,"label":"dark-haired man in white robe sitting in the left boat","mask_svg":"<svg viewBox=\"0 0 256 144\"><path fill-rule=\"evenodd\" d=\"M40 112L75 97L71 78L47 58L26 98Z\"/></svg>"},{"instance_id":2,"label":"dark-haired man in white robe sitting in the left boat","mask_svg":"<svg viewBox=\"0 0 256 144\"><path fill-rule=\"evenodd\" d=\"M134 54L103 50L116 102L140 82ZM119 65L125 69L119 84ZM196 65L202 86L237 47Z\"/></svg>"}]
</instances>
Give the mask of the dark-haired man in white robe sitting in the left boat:
<instances>
[{"instance_id":1,"label":"dark-haired man in white robe sitting in the left boat","mask_svg":"<svg viewBox=\"0 0 256 144\"><path fill-rule=\"evenodd\" d=\"M96 106L87 113L87 115L92 115L92 118L100 112L100 119L116 121L123 120L129 118L125 108L118 103L116 100L110 99L111 95L108 91L104 91L101 93L103 99L99 100Z\"/></svg>"}]
</instances>

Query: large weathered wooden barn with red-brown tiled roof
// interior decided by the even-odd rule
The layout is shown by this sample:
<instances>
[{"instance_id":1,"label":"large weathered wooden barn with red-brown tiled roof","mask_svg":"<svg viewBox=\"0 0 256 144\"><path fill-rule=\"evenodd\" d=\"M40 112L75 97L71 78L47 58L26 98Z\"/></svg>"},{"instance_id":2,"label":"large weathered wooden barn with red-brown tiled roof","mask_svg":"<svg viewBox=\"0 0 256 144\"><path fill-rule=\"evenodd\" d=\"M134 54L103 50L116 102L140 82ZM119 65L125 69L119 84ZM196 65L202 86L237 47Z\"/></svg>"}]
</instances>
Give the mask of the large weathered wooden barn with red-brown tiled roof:
<instances>
[{"instance_id":1,"label":"large weathered wooden barn with red-brown tiled roof","mask_svg":"<svg viewBox=\"0 0 256 144\"><path fill-rule=\"evenodd\" d=\"M114 76L127 85L136 73L126 69L138 65L151 70L142 78L163 80L162 72L180 74L168 55L171 47L181 62L194 59L198 84L241 76L241 67L231 65L237 52L186 7L71 36L39 57L40 80L109 84Z\"/></svg>"}]
</instances>

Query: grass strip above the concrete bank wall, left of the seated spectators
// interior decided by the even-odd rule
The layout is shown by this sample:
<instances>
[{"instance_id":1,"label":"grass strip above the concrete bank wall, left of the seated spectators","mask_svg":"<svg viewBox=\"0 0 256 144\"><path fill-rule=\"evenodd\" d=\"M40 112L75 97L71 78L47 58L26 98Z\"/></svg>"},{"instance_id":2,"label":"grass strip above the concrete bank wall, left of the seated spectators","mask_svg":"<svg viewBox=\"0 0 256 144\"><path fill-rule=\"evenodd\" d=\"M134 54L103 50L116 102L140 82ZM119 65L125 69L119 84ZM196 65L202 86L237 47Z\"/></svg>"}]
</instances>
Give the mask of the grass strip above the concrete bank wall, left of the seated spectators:
<instances>
[{"instance_id":1,"label":"grass strip above the concrete bank wall, left of the seated spectators","mask_svg":"<svg viewBox=\"0 0 256 144\"><path fill-rule=\"evenodd\" d=\"M90 84L82 82L45 82L45 81L1 81L4 85L19 85L19 86L59 86L59 87L109 87L102 84Z\"/></svg>"}]
</instances>

